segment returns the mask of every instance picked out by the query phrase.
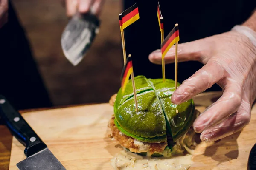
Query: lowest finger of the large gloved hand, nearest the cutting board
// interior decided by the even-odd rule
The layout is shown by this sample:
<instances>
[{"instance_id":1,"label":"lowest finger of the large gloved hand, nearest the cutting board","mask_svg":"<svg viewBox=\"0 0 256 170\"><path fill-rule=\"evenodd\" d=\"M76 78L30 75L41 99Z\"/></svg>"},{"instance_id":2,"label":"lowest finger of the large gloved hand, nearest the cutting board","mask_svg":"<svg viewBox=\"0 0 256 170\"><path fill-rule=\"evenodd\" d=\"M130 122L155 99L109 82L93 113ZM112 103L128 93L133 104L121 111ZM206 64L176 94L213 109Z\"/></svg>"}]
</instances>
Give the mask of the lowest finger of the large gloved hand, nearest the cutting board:
<instances>
[{"instance_id":1,"label":"lowest finger of the large gloved hand, nearest the cutting board","mask_svg":"<svg viewBox=\"0 0 256 170\"><path fill-rule=\"evenodd\" d=\"M244 128L250 122L250 103L242 100L238 111L230 115L227 119L214 127L204 130L201 133L201 140L204 142L213 142Z\"/></svg>"}]
</instances>

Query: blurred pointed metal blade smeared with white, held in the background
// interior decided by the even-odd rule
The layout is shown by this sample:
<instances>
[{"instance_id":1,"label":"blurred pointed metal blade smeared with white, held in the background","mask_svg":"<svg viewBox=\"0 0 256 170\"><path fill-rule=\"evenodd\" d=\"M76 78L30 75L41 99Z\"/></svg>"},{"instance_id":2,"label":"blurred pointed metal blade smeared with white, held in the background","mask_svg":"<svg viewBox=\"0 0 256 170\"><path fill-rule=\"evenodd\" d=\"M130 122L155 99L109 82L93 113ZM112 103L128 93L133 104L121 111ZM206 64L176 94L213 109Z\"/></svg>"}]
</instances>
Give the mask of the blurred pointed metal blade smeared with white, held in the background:
<instances>
[{"instance_id":1,"label":"blurred pointed metal blade smeared with white, held in the background","mask_svg":"<svg viewBox=\"0 0 256 170\"><path fill-rule=\"evenodd\" d=\"M61 35L61 48L65 57L78 65L89 50L99 32L99 19L92 13L76 13Z\"/></svg>"}]
</instances>

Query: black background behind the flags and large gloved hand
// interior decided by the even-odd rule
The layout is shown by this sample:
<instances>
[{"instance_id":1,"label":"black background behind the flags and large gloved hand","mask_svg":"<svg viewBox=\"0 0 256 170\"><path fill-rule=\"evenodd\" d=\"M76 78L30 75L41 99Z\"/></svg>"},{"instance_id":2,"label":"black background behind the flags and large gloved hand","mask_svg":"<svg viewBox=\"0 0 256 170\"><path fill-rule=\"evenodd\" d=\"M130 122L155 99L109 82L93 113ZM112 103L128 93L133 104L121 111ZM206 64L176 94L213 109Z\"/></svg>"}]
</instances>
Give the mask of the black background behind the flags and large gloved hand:
<instances>
[{"instance_id":1,"label":"black background behind the flags and large gloved hand","mask_svg":"<svg viewBox=\"0 0 256 170\"><path fill-rule=\"evenodd\" d=\"M132 54L134 74L150 78L162 77L162 66L148 61L148 54L160 48L161 37L157 20L157 0L127 0L128 8L138 3L140 20L125 28L127 54ZM180 41L190 42L230 31L247 20L256 8L256 0L159 0L163 15L164 37L175 23L179 24ZM141 67L143 65L143 67ZM203 65L199 62L178 64L178 82L189 78ZM175 64L166 65L166 78L175 79ZM221 90L214 85L207 91Z\"/></svg>"}]
</instances>

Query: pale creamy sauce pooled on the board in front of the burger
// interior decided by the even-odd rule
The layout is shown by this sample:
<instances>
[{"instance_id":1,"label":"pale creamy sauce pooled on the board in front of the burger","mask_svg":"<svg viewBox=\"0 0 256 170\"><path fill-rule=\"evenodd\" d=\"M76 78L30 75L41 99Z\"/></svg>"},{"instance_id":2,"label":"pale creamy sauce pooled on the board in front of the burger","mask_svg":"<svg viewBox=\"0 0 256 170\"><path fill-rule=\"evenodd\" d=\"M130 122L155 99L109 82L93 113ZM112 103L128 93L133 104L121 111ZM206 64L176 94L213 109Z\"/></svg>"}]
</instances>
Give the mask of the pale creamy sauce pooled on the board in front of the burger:
<instances>
[{"instance_id":1,"label":"pale creamy sauce pooled on the board in front of the burger","mask_svg":"<svg viewBox=\"0 0 256 170\"><path fill-rule=\"evenodd\" d=\"M172 158L146 158L122 150L111 159L114 170L188 170L192 155Z\"/></svg>"}]
</instances>

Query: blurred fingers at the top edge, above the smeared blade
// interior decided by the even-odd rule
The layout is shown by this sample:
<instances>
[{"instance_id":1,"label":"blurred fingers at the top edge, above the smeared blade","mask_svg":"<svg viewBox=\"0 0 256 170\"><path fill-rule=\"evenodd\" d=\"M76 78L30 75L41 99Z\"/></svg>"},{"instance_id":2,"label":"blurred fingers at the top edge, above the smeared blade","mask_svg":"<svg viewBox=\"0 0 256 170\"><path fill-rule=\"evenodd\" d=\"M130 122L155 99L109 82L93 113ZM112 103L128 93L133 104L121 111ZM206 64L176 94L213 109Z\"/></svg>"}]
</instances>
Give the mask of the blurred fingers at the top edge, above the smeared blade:
<instances>
[{"instance_id":1,"label":"blurred fingers at the top edge, above the smeared blade","mask_svg":"<svg viewBox=\"0 0 256 170\"><path fill-rule=\"evenodd\" d=\"M105 0L66 0L67 16L73 16L76 11L85 14L91 10L99 16Z\"/></svg>"}]
</instances>

